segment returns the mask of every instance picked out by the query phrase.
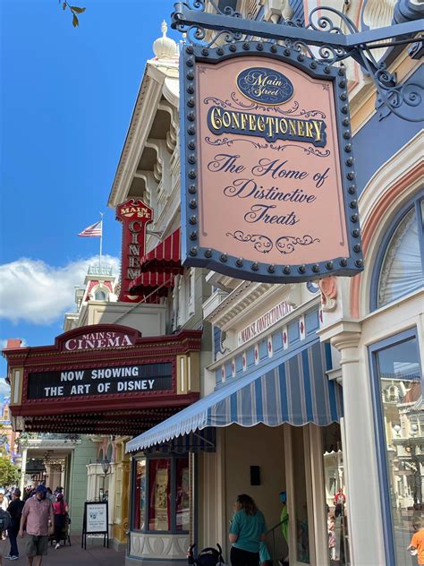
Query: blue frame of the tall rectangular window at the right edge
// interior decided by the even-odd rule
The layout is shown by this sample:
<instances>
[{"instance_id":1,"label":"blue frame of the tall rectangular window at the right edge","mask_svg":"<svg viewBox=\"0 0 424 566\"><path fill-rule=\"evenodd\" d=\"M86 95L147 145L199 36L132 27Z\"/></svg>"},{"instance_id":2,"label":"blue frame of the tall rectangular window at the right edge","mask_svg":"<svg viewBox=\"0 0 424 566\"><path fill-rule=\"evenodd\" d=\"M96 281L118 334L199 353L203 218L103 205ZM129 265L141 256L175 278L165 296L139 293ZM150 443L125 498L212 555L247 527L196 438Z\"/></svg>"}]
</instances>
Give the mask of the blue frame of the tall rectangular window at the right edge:
<instances>
[{"instance_id":1,"label":"blue frame of the tall rectangular window at the right edge","mask_svg":"<svg viewBox=\"0 0 424 566\"><path fill-rule=\"evenodd\" d=\"M420 339L416 326L379 340L368 347L371 402L374 420L374 442L376 446L378 486L383 519L383 536L386 549L386 566L396 566L394 546L394 518L392 515L388 462L386 455L386 428L383 414L382 389L378 378L377 355L382 350L401 344L410 339L416 340L418 360L420 362L421 388L424 391L424 376L420 358Z\"/></svg>"}]
</instances>

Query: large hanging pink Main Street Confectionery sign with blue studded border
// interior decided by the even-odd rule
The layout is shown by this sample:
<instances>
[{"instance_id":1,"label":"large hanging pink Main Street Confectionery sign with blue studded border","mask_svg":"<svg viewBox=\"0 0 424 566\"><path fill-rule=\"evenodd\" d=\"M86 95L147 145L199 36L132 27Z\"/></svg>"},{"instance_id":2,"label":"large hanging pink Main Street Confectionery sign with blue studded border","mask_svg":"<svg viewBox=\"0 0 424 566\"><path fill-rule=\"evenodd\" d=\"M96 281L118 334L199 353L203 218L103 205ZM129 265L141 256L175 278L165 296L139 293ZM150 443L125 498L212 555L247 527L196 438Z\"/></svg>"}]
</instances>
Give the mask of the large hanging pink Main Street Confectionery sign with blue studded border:
<instances>
[{"instance_id":1,"label":"large hanging pink Main Street Confectionery sign with blue studded border","mask_svg":"<svg viewBox=\"0 0 424 566\"><path fill-rule=\"evenodd\" d=\"M344 69L242 42L189 45L180 73L184 263L279 283L362 270Z\"/></svg>"}]
</instances>

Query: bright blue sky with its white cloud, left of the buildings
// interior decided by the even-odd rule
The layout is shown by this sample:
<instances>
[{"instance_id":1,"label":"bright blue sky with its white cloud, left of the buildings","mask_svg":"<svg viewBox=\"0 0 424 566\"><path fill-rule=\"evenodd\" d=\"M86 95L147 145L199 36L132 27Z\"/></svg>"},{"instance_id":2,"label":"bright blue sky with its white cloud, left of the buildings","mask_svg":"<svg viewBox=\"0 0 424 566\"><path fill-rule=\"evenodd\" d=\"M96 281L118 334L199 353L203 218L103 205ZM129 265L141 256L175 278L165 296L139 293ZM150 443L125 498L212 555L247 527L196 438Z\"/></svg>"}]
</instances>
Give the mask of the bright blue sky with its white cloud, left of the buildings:
<instances>
[{"instance_id":1,"label":"bright blue sky with its white cloud, left of the buildings","mask_svg":"<svg viewBox=\"0 0 424 566\"><path fill-rule=\"evenodd\" d=\"M0 0L0 348L52 344L75 286L119 269L121 225L106 206L152 43L172 0ZM177 32L168 35L181 39ZM6 363L0 360L0 378Z\"/></svg>"}]
</instances>

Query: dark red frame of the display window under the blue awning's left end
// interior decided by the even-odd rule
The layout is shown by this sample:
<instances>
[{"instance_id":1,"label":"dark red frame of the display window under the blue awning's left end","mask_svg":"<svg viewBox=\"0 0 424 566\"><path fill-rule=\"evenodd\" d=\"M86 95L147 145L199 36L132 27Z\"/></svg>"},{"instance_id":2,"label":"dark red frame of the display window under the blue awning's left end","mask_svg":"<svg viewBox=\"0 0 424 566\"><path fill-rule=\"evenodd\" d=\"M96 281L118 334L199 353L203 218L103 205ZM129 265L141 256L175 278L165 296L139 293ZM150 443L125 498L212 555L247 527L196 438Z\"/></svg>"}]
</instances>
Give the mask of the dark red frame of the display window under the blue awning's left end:
<instances>
[{"instance_id":1,"label":"dark red frame of the display window under the blue awning's left end","mask_svg":"<svg viewBox=\"0 0 424 566\"><path fill-rule=\"evenodd\" d=\"M146 459L146 504L144 509L144 529L135 528L135 493L136 493L136 476L137 476L137 462L140 459ZM148 529L148 508L149 508L149 462L153 459L170 459L171 460L171 528L169 530L150 530ZM176 492L176 460L188 459L190 467L190 454L140 454L132 459L131 465L131 531L134 533L143 533L148 535L188 535L189 530L177 530L176 528L176 505L175 505L175 492Z\"/></svg>"}]
</instances>

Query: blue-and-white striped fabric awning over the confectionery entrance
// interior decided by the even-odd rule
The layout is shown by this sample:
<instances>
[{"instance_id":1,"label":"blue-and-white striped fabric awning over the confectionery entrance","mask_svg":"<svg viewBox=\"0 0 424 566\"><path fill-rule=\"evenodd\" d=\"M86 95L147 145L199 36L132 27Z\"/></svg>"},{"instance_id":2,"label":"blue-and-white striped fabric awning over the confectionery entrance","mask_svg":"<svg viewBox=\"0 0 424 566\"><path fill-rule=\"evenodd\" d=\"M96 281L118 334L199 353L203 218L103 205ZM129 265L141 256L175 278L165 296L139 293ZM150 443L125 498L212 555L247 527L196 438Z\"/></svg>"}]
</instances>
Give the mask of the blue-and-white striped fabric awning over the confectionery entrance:
<instances>
[{"instance_id":1,"label":"blue-and-white striped fabric awning over the confectionery entrance","mask_svg":"<svg viewBox=\"0 0 424 566\"><path fill-rule=\"evenodd\" d=\"M126 451L145 450L208 426L326 426L339 421L342 388L326 376L326 347L315 341L288 357L270 360L133 438Z\"/></svg>"}]
</instances>

